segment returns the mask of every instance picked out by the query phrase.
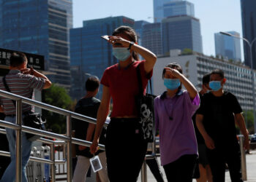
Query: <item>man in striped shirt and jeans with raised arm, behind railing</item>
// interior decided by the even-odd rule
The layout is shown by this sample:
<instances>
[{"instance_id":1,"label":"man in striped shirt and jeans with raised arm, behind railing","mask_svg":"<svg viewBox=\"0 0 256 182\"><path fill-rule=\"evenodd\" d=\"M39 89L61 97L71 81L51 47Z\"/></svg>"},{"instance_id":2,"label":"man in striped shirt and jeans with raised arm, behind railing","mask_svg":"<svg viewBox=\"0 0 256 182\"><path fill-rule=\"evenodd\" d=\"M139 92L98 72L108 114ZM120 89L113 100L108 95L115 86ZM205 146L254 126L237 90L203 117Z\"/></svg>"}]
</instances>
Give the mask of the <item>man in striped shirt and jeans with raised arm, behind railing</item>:
<instances>
[{"instance_id":1,"label":"man in striped shirt and jeans with raised arm, behind railing","mask_svg":"<svg viewBox=\"0 0 256 182\"><path fill-rule=\"evenodd\" d=\"M28 60L23 53L13 53L10 57L10 71L5 76L10 92L26 98L34 98L34 89L42 90L50 87L50 80L33 68L27 68ZM0 80L0 90L7 91L3 80ZM23 114L34 111L34 106L23 103ZM6 115L5 121L16 123L16 108L12 100L0 97L0 111ZM6 128L7 139L9 142L11 162L5 170L0 182L15 181L15 130ZM22 132L22 181L27 182L26 164L29 161L31 152L31 141L26 139L26 133Z\"/></svg>"}]
</instances>

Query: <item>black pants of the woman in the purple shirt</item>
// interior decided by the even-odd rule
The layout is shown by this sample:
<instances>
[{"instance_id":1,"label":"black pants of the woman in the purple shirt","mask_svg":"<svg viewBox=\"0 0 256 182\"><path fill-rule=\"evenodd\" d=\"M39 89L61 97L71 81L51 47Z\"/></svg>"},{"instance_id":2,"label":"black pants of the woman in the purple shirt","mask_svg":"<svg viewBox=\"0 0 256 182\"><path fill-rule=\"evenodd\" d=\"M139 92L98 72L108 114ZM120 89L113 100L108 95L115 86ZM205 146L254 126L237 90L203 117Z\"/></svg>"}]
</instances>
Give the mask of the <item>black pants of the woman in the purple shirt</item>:
<instances>
[{"instance_id":1,"label":"black pants of the woman in the purple shirt","mask_svg":"<svg viewBox=\"0 0 256 182\"><path fill-rule=\"evenodd\" d=\"M176 161L164 165L168 182L192 182L197 155L184 155Z\"/></svg>"}]
</instances>

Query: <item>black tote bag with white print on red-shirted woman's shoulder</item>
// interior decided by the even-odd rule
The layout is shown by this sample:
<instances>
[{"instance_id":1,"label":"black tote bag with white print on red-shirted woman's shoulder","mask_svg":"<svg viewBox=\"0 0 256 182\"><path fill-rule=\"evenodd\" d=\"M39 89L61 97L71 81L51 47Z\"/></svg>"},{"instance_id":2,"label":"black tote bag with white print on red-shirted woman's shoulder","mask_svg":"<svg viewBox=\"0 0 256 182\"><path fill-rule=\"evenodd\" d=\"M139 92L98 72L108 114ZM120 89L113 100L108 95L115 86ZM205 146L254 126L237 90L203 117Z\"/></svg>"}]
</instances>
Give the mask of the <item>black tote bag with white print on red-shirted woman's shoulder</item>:
<instances>
[{"instance_id":1,"label":"black tote bag with white print on red-shirted woman's shoulder","mask_svg":"<svg viewBox=\"0 0 256 182\"><path fill-rule=\"evenodd\" d=\"M139 95L135 98L138 113L140 114L140 124L143 132L143 139L146 142L153 142L155 136L155 122L154 122L154 95L146 93L143 94L142 88L142 79L140 74L140 64L136 68L137 76L138 76L138 84L139 84ZM151 88L151 80L149 80L150 89Z\"/></svg>"}]
</instances>

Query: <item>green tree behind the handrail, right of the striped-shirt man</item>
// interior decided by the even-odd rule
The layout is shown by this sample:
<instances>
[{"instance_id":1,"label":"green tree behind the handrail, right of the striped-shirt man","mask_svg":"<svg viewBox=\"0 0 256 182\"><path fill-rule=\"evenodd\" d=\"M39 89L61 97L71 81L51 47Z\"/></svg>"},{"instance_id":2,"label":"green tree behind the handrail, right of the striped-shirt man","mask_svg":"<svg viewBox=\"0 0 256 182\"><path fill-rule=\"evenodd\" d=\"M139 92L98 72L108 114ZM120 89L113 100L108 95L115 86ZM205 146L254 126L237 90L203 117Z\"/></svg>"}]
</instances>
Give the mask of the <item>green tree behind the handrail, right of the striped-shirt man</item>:
<instances>
[{"instance_id":1,"label":"green tree behind the handrail, right of the striped-shirt man","mask_svg":"<svg viewBox=\"0 0 256 182\"><path fill-rule=\"evenodd\" d=\"M53 84L50 89L43 91L42 100L44 103L67 110L71 110L75 104L67 94L67 90L56 84ZM66 116L46 110L42 111L42 115L47 120L45 127L48 130L56 133L66 133Z\"/></svg>"}]
</instances>

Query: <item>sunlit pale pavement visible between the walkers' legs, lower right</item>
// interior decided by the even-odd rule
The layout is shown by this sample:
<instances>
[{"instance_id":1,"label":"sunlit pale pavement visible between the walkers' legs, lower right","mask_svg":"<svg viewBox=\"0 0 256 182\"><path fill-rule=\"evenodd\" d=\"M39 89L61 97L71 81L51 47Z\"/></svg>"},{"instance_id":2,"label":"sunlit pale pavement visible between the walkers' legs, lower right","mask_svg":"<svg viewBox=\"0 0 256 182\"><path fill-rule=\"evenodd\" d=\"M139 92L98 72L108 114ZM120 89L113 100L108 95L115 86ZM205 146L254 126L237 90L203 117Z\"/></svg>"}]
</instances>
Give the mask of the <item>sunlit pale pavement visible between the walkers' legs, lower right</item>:
<instances>
[{"instance_id":1,"label":"sunlit pale pavement visible between the walkers' legs, lower right","mask_svg":"<svg viewBox=\"0 0 256 182\"><path fill-rule=\"evenodd\" d=\"M252 154L246 154L246 167L247 167L247 181L248 182L256 182L256 150L251 151ZM159 157L158 157L159 160ZM160 161L159 161L160 162ZM165 171L161 166L162 174L164 175L164 179L167 182ZM147 175L148 175L148 182L156 182L154 176L152 175L151 171L147 167ZM141 182L141 178L139 176L138 181ZM231 182L230 180L230 173L226 172L225 181ZM193 182L196 182L193 180Z\"/></svg>"}]
</instances>

